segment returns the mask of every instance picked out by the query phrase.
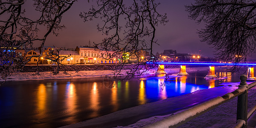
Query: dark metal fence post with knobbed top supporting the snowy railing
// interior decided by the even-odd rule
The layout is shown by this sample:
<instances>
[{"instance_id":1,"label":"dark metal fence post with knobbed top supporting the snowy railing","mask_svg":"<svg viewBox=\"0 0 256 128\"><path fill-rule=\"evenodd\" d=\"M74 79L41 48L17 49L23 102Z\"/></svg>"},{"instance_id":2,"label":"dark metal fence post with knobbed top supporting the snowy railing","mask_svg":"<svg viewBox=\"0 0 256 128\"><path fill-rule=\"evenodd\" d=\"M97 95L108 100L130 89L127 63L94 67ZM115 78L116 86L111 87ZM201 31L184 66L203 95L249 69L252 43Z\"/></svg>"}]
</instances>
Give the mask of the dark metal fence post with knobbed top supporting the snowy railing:
<instances>
[{"instance_id":1,"label":"dark metal fence post with knobbed top supporting the snowy railing","mask_svg":"<svg viewBox=\"0 0 256 128\"><path fill-rule=\"evenodd\" d=\"M247 90L238 96L236 121L238 121L239 119L244 120L246 124L243 125L242 128L247 128L247 102L248 102L248 84L246 83L247 76L241 75L240 80L241 82L238 87L245 86L247 87Z\"/></svg>"}]
</instances>

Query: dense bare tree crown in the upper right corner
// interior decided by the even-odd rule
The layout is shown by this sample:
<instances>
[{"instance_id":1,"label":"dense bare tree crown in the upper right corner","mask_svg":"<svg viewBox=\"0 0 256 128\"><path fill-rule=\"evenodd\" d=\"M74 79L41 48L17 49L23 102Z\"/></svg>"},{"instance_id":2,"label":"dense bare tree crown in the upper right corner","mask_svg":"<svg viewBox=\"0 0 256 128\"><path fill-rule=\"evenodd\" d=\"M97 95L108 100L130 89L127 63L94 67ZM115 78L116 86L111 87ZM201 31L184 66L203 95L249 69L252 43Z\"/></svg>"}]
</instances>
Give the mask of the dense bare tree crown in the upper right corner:
<instances>
[{"instance_id":1,"label":"dense bare tree crown in the upper right corner","mask_svg":"<svg viewBox=\"0 0 256 128\"><path fill-rule=\"evenodd\" d=\"M215 48L218 60L242 63L255 51L255 1L195 0L185 7L189 18L205 23L199 37Z\"/></svg>"}]
</instances>

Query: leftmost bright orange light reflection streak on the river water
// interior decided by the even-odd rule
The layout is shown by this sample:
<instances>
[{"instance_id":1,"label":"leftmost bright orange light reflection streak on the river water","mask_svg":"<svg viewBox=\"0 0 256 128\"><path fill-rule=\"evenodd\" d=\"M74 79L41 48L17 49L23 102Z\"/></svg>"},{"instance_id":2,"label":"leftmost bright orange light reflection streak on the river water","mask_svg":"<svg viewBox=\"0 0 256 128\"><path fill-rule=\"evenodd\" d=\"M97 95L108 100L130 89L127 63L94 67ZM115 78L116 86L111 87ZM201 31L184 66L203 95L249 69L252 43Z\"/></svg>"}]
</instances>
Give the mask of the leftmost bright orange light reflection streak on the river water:
<instances>
[{"instance_id":1,"label":"leftmost bright orange light reflection streak on the river water","mask_svg":"<svg viewBox=\"0 0 256 128\"><path fill-rule=\"evenodd\" d=\"M37 93L37 113L38 118L43 119L46 116L46 87L44 84L39 84Z\"/></svg>"}]
</instances>

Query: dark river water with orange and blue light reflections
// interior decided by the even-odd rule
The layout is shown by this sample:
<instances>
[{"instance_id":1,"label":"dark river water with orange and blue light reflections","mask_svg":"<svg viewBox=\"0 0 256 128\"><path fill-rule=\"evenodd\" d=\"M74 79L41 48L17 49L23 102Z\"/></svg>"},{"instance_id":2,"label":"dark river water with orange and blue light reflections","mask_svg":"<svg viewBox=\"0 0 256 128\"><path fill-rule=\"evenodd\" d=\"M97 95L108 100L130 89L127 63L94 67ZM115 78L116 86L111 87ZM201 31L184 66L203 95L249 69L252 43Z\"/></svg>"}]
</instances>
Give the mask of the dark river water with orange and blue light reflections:
<instances>
[{"instance_id":1,"label":"dark river water with orange and blue light reflections","mask_svg":"<svg viewBox=\"0 0 256 128\"><path fill-rule=\"evenodd\" d=\"M206 81L207 71L165 81L154 76L127 81L108 78L7 81L0 87L0 127L52 128L103 116L118 110L238 82L239 74ZM166 82L166 86L162 86Z\"/></svg>"}]
</instances>

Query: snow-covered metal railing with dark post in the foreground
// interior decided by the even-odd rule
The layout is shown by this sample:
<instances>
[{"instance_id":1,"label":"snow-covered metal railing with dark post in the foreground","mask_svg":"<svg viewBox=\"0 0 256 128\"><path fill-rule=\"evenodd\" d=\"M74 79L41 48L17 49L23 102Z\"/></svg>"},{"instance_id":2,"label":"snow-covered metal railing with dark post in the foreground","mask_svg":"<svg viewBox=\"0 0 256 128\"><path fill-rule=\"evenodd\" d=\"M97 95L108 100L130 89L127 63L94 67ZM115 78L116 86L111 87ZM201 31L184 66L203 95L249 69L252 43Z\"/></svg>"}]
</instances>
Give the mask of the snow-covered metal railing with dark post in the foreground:
<instances>
[{"instance_id":1,"label":"snow-covered metal railing with dark post in the foreground","mask_svg":"<svg viewBox=\"0 0 256 128\"><path fill-rule=\"evenodd\" d=\"M247 76L240 76L241 83L239 88L231 93L227 93L224 96L218 96L215 99L211 99L207 102L196 105L185 111L176 113L175 115L169 116L166 119L155 122L153 124L147 125L146 128L176 128L197 116L212 110L213 108L229 101L230 99L238 96L237 102L237 116L236 116L236 126L234 128L247 128L247 119L256 110L256 105L254 105L250 111L247 112L247 101L248 101L248 90L256 86L256 82L247 84Z\"/></svg>"}]
</instances>

